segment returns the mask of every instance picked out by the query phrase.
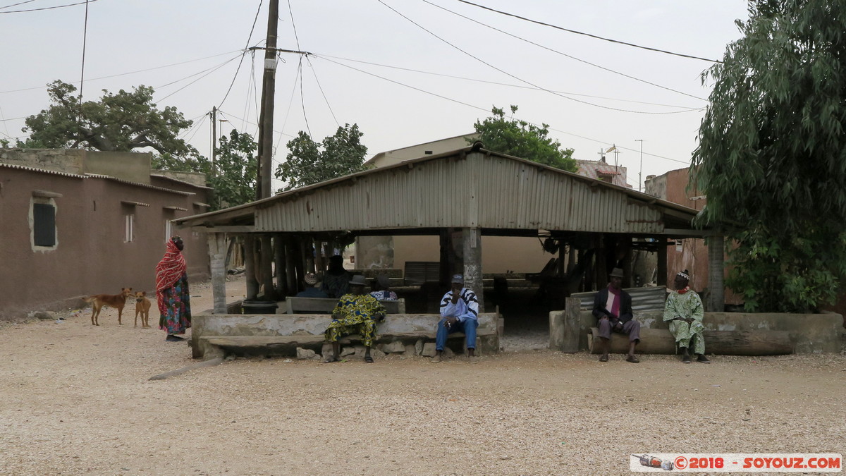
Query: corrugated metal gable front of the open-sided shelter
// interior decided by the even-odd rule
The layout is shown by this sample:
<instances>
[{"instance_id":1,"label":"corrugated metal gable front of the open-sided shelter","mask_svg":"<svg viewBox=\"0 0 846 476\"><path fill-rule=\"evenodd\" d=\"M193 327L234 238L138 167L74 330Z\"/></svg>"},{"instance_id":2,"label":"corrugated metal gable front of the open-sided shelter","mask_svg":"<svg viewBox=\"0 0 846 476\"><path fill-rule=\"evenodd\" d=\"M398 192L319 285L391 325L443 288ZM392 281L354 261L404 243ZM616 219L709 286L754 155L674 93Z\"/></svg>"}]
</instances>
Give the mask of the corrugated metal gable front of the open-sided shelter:
<instances>
[{"instance_id":1,"label":"corrugated metal gable front of the open-sided shelter","mask_svg":"<svg viewBox=\"0 0 846 476\"><path fill-rule=\"evenodd\" d=\"M476 227L660 235L690 229L696 210L600 180L481 148L426 156L177 219L225 225L253 214L255 231Z\"/></svg>"}]
</instances>

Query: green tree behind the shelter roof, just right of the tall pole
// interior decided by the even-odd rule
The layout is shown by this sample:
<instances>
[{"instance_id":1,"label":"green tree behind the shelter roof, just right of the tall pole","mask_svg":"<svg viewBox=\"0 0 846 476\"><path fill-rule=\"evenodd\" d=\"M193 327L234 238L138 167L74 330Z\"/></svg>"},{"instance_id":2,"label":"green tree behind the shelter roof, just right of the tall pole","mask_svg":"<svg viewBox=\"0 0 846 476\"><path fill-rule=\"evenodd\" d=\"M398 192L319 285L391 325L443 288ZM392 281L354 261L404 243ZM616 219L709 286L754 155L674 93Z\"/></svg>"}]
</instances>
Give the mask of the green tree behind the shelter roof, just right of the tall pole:
<instances>
[{"instance_id":1,"label":"green tree behind the shelter roof, just right of the tall pole","mask_svg":"<svg viewBox=\"0 0 846 476\"><path fill-rule=\"evenodd\" d=\"M283 190L316 184L365 169L367 147L361 143L358 125L343 125L333 136L317 143L300 130L288 141L288 157L276 169L276 178L286 183Z\"/></svg>"}]
</instances>

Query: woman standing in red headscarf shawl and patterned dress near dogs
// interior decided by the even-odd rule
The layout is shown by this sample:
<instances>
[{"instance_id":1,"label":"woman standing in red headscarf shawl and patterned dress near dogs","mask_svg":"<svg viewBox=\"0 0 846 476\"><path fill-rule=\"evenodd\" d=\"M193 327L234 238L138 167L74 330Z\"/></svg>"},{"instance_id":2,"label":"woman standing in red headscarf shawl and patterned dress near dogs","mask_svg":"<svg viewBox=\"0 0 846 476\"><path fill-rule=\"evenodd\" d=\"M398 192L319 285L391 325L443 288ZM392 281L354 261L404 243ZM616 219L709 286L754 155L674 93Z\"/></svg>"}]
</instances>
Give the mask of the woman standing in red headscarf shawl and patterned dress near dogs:
<instances>
[{"instance_id":1,"label":"woman standing in red headscarf shawl and patterned dress near dogs","mask_svg":"<svg viewBox=\"0 0 846 476\"><path fill-rule=\"evenodd\" d=\"M182 256L182 238L173 236L168 241L168 250L156 267L156 300L159 307L159 329L168 331L165 340L179 341L185 329L191 327L191 303L188 292L188 274L185 257Z\"/></svg>"}]
</instances>

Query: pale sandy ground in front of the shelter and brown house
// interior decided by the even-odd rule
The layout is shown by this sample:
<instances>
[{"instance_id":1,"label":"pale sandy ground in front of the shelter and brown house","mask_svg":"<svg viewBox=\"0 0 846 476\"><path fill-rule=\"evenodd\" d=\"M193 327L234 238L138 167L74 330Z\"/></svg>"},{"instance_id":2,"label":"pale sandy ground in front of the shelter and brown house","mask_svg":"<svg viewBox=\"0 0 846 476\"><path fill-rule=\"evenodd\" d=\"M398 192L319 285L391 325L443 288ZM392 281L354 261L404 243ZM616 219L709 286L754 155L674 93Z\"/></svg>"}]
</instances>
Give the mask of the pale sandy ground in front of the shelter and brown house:
<instances>
[{"instance_id":1,"label":"pale sandy ground in front of the shelter and brown house","mask_svg":"<svg viewBox=\"0 0 846 476\"><path fill-rule=\"evenodd\" d=\"M626 474L633 453L846 453L841 355L258 358L150 381L190 350L128 311L0 325L0 473Z\"/></svg>"}]
</instances>

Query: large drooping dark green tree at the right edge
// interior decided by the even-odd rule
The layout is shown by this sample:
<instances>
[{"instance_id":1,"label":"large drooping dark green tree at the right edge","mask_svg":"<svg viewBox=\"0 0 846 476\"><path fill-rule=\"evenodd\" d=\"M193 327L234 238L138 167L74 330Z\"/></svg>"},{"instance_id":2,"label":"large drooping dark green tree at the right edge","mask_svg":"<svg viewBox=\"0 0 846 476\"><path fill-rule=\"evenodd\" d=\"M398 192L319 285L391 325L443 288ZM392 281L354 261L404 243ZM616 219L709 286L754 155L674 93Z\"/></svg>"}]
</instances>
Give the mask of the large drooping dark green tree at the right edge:
<instances>
[{"instance_id":1,"label":"large drooping dark green tree at the right edge","mask_svg":"<svg viewBox=\"0 0 846 476\"><path fill-rule=\"evenodd\" d=\"M757 0L713 81L691 166L698 223L733 241L747 311L808 312L846 277L846 3ZM731 241L729 241L731 242Z\"/></svg>"}]
</instances>

